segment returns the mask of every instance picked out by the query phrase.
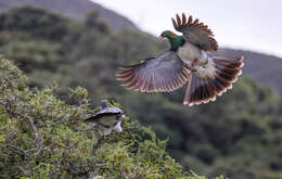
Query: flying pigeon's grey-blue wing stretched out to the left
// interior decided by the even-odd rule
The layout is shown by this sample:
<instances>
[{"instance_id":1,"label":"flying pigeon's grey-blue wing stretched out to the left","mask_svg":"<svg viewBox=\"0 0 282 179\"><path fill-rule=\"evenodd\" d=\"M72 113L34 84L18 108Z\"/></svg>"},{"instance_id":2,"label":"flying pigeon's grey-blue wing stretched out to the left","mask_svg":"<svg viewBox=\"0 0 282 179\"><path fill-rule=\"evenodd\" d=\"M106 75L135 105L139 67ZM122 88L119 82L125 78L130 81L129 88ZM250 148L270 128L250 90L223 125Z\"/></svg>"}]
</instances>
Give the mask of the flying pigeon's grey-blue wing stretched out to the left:
<instances>
[{"instance_id":1,"label":"flying pigeon's grey-blue wing stretched out to the left","mask_svg":"<svg viewBox=\"0 0 282 179\"><path fill-rule=\"evenodd\" d=\"M190 69L172 51L149 57L131 66L119 67L116 75L121 86L141 92L167 92L182 87L190 79Z\"/></svg>"}]
</instances>

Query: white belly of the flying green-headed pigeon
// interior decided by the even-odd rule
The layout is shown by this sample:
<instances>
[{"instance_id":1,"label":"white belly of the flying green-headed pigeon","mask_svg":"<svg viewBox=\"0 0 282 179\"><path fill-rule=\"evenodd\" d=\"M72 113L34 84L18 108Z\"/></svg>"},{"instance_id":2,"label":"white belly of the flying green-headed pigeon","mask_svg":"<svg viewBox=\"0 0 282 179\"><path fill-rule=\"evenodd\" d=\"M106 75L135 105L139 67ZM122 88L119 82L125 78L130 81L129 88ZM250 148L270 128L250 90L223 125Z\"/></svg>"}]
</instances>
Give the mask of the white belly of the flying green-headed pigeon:
<instances>
[{"instance_id":1,"label":"white belly of the flying green-headed pigeon","mask_svg":"<svg viewBox=\"0 0 282 179\"><path fill-rule=\"evenodd\" d=\"M205 52L203 52L198 47L190 42L185 42L182 47L180 47L177 51L177 54L184 63L189 64L195 59L202 63L204 63L204 61L206 61L207 59Z\"/></svg>"}]
</instances>

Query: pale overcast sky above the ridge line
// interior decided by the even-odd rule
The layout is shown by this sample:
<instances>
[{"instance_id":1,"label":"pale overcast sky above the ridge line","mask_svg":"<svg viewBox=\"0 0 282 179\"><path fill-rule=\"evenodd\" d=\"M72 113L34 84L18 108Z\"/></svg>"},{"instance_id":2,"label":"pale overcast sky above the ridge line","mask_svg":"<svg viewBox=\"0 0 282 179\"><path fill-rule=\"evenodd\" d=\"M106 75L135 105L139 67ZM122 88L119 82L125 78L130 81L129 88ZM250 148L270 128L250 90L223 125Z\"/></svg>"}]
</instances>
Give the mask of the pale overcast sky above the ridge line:
<instances>
[{"instance_id":1,"label":"pale overcast sky above the ridge line","mask_svg":"<svg viewBox=\"0 0 282 179\"><path fill-rule=\"evenodd\" d=\"M176 13L208 25L221 47L282 56L282 0L93 0L158 36Z\"/></svg>"}]
</instances>

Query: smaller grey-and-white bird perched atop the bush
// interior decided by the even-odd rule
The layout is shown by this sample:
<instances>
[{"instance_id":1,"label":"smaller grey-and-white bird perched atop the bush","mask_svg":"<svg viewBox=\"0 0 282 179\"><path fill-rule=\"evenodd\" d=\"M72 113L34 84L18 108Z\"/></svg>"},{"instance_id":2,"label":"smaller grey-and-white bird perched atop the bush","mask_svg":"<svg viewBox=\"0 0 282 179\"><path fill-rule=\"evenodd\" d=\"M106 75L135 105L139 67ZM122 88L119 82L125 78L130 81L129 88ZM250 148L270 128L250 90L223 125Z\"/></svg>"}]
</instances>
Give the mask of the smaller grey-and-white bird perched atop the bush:
<instances>
[{"instance_id":1,"label":"smaller grey-and-white bird perched atop the bush","mask_svg":"<svg viewBox=\"0 0 282 179\"><path fill-rule=\"evenodd\" d=\"M102 108L94 115L87 119L86 123L94 123L104 132L104 136L111 135L112 130L121 132L121 120L125 118L124 112L118 107L110 107L106 100L101 101Z\"/></svg>"}]
</instances>

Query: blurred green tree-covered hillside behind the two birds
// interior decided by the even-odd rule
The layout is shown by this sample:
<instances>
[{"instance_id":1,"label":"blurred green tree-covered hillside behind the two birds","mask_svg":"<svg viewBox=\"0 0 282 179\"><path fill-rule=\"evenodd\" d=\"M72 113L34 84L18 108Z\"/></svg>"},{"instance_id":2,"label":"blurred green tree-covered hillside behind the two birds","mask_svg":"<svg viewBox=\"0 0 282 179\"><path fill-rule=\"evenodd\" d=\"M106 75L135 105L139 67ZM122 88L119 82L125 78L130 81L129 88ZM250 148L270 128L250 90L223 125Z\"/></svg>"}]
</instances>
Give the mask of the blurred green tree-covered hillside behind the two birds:
<instances>
[{"instance_id":1,"label":"blurred green tree-covered hillside behind the two birds","mask_svg":"<svg viewBox=\"0 0 282 179\"><path fill-rule=\"evenodd\" d=\"M41 88L56 79L65 89L87 88L92 105L115 99L158 138L170 138L168 152L187 169L240 179L282 177L280 92L240 78L216 102L184 107L184 88L157 94L126 91L115 80L117 66L168 46L141 31L113 33L97 12L76 21L48 10L16 8L0 14L0 53L27 74L29 86ZM246 64L253 65L248 60ZM67 90L56 95L65 100Z\"/></svg>"}]
</instances>

